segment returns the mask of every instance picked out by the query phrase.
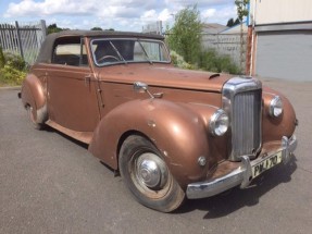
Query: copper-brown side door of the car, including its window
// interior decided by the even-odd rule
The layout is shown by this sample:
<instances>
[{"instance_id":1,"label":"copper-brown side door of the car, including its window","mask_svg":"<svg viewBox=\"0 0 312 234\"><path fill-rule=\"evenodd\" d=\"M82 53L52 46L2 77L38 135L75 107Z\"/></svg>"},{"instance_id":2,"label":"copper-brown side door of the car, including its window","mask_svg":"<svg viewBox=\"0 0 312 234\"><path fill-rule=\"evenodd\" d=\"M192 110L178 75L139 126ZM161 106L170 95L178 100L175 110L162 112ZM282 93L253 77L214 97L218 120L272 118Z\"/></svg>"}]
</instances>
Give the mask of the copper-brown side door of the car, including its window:
<instances>
[{"instance_id":1,"label":"copper-brown side door of the car, including its window","mask_svg":"<svg viewBox=\"0 0 312 234\"><path fill-rule=\"evenodd\" d=\"M49 119L71 131L92 132L100 116L84 40L60 38L53 48L47 86Z\"/></svg>"}]
</instances>

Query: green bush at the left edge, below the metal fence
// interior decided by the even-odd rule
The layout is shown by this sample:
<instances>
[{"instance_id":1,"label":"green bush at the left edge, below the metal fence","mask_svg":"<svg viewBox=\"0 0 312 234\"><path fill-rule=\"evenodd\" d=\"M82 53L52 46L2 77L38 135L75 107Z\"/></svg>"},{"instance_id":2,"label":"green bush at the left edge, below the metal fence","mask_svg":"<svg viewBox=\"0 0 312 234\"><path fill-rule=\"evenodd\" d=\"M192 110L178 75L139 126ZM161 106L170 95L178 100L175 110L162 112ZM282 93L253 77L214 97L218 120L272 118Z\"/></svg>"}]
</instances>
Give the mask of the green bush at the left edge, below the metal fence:
<instances>
[{"instance_id":1,"label":"green bush at the left edge, below the metal fence","mask_svg":"<svg viewBox=\"0 0 312 234\"><path fill-rule=\"evenodd\" d=\"M25 61L17 54L3 53L0 48L0 86L21 85L25 76Z\"/></svg>"}]
</instances>

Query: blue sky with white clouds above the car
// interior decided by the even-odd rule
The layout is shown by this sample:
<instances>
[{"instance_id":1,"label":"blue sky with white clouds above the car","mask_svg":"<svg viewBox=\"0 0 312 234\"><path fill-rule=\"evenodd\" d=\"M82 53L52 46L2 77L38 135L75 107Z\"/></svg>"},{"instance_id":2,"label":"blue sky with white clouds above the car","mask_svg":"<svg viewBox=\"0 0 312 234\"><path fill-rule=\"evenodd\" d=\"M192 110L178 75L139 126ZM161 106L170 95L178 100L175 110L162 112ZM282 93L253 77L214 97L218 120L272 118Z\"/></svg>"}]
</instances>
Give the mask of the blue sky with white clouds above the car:
<instances>
[{"instance_id":1,"label":"blue sky with white clouds above the car","mask_svg":"<svg viewBox=\"0 0 312 234\"><path fill-rule=\"evenodd\" d=\"M237 15L234 0L0 0L0 22L45 20L71 29L141 32L157 21L172 26L174 15L195 3L204 23L226 25Z\"/></svg>"}]
</instances>

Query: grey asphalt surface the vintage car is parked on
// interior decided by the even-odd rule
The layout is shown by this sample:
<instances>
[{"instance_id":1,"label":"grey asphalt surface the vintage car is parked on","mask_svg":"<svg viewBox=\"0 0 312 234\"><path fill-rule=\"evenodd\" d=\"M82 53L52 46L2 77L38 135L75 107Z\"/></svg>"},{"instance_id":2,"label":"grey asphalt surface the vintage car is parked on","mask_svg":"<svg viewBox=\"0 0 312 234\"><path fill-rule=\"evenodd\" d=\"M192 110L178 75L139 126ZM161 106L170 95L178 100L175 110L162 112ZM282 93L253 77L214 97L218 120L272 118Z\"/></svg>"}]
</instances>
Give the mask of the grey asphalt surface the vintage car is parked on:
<instances>
[{"instance_id":1,"label":"grey asphalt surface the vintage car is parked on","mask_svg":"<svg viewBox=\"0 0 312 234\"><path fill-rule=\"evenodd\" d=\"M0 89L0 233L311 233L312 83L262 81L297 111L296 158L174 213L136 202L85 145L34 130L17 90Z\"/></svg>"}]
</instances>

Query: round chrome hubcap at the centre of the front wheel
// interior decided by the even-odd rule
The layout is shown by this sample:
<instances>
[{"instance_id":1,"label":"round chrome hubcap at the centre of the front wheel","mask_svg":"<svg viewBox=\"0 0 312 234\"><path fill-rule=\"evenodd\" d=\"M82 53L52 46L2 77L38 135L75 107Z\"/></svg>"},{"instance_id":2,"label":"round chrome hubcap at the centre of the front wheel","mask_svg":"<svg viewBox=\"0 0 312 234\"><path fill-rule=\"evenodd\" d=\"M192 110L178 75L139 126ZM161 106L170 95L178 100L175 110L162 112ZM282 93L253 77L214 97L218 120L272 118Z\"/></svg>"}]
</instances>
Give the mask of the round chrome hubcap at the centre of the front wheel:
<instances>
[{"instance_id":1,"label":"round chrome hubcap at the centre of the front wheel","mask_svg":"<svg viewBox=\"0 0 312 234\"><path fill-rule=\"evenodd\" d=\"M167 169L163 160L154 153L143 153L137 160L139 183L153 189L161 188L167 181Z\"/></svg>"}]
</instances>

